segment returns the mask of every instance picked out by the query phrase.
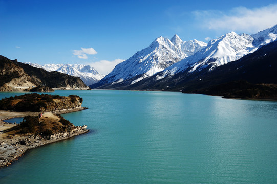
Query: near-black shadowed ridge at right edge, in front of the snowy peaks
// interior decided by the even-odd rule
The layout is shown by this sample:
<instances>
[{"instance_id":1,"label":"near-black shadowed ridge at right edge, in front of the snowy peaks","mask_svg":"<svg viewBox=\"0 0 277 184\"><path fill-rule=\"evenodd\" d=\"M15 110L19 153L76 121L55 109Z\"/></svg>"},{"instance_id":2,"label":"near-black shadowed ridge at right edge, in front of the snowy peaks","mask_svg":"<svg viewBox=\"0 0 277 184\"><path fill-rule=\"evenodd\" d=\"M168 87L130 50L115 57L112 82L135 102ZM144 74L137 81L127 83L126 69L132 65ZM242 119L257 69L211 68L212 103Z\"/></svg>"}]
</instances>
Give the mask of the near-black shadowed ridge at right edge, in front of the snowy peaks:
<instances>
[{"instance_id":1,"label":"near-black shadowed ridge at right edge, in front of the snowy peaks","mask_svg":"<svg viewBox=\"0 0 277 184\"><path fill-rule=\"evenodd\" d=\"M232 82L248 81L253 84L277 84L277 41L263 45L241 59L225 64L199 78L191 80L184 91L204 89Z\"/></svg>"}]
</instances>

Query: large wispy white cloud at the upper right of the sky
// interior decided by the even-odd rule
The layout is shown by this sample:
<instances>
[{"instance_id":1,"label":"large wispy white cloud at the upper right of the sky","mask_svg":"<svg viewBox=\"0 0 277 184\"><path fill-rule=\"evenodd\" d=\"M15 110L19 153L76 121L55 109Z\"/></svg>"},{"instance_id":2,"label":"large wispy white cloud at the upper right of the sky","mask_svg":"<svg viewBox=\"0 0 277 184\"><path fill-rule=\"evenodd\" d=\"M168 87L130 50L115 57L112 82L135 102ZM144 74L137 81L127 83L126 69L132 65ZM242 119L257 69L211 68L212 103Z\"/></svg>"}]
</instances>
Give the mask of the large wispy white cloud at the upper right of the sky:
<instances>
[{"instance_id":1,"label":"large wispy white cloud at the upper right of the sky","mask_svg":"<svg viewBox=\"0 0 277 184\"><path fill-rule=\"evenodd\" d=\"M229 11L194 11L195 18L204 28L218 31L257 33L277 24L277 4L248 9L237 7Z\"/></svg>"}]
</instances>

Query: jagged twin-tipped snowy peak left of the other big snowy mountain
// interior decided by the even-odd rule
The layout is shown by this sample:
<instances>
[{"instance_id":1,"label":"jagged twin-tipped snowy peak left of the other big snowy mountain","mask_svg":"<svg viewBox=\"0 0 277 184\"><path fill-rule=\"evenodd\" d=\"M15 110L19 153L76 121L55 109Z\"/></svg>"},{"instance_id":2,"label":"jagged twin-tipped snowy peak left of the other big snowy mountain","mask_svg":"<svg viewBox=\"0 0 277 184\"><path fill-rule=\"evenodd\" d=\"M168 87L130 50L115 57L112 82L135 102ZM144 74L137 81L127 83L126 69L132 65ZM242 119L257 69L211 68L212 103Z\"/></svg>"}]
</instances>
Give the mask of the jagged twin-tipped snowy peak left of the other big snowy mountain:
<instances>
[{"instance_id":1,"label":"jagged twin-tipped snowy peak left of the other big snowy mountain","mask_svg":"<svg viewBox=\"0 0 277 184\"><path fill-rule=\"evenodd\" d=\"M131 84L154 75L166 67L193 55L207 44L201 41L182 41L177 35L172 39L156 38L149 47L137 52L126 61L115 66L114 70L97 83L97 86L119 83L134 78Z\"/></svg>"}]
</instances>

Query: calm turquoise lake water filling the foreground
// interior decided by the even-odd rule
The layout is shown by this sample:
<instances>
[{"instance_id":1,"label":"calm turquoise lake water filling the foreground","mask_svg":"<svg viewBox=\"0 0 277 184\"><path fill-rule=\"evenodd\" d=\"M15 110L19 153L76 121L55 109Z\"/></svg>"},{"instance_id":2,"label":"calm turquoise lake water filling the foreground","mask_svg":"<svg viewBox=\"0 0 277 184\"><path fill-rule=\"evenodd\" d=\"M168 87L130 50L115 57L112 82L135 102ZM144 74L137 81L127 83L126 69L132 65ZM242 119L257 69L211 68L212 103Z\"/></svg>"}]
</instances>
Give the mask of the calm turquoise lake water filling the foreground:
<instances>
[{"instance_id":1,"label":"calm turquoise lake water filling the foreground","mask_svg":"<svg viewBox=\"0 0 277 184\"><path fill-rule=\"evenodd\" d=\"M55 94L83 98L89 109L63 116L91 132L30 150L0 169L1 183L277 181L277 102L146 91Z\"/></svg>"}]
</instances>

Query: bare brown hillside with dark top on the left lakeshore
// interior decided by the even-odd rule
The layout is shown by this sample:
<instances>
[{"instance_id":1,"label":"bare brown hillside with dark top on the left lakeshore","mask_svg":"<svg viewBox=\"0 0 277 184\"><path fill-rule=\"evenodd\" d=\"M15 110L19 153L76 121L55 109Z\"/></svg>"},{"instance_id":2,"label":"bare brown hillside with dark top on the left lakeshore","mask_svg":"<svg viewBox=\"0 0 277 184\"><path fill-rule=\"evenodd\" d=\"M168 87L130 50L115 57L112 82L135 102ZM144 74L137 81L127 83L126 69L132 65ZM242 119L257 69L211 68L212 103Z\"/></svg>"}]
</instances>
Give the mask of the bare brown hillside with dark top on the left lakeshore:
<instances>
[{"instance_id":1,"label":"bare brown hillside with dark top on the left lakeshore","mask_svg":"<svg viewBox=\"0 0 277 184\"><path fill-rule=\"evenodd\" d=\"M33 86L51 88L88 88L78 77L59 72L47 72L28 64L0 56L0 90L20 91Z\"/></svg>"}]
</instances>

